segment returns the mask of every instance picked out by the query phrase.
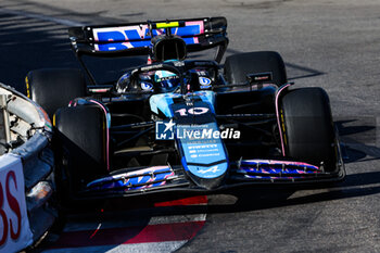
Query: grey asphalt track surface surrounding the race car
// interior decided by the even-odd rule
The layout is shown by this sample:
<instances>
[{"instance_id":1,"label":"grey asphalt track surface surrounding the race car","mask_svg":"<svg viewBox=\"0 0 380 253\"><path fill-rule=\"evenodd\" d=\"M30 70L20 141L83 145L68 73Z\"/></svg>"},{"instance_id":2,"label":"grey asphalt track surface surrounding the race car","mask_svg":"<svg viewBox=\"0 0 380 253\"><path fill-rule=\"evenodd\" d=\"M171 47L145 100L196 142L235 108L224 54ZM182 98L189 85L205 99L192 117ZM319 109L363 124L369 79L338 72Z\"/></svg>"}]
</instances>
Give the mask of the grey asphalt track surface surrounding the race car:
<instances>
[{"instance_id":1,"label":"grey asphalt track surface surrounding the race car","mask_svg":"<svg viewBox=\"0 0 380 253\"><path fill-rule=\"evenodd\" d=\"M379 1L1 0L0 8L0 81L20 90L30 69L78 66L67 26L226 16L228 54L278 51L297 87L328 91L347 176L328 188L244 189L163 210L206 214L178 252L380 252Z\"/></svg>"}]
</instances>

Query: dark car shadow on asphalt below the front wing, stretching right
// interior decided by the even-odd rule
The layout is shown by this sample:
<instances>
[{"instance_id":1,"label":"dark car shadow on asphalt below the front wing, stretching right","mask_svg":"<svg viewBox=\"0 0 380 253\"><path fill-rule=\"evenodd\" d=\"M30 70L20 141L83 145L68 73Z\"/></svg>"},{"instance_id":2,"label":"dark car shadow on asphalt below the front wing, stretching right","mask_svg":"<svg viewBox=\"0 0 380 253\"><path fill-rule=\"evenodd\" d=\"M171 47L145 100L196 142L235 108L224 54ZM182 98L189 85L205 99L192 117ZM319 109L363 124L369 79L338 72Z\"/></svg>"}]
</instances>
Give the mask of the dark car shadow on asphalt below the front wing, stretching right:
<instances>
[{"instance_id":1,"label":"dark car shadow on asphalt below the front wing, stretching right","mask_svg":"<svg viewBox=\"0 0 380 253\"><path fill-rule=\"evenodd\" d=\"M230 203L217 200L214 203L208 203L208 205L157 207L153 212L150 211L150 215L239 213L366 197L380 193L379 182L380 172L370 172L347 175L343 182L315 188L257 189L255 187L244 187L228 192L228 194L233 197L229 198L230 200L233 199L233 201L227 201ZM299 190L307 190L307 193L301 197L292 197Z\"/></svg>"}]
</instances>

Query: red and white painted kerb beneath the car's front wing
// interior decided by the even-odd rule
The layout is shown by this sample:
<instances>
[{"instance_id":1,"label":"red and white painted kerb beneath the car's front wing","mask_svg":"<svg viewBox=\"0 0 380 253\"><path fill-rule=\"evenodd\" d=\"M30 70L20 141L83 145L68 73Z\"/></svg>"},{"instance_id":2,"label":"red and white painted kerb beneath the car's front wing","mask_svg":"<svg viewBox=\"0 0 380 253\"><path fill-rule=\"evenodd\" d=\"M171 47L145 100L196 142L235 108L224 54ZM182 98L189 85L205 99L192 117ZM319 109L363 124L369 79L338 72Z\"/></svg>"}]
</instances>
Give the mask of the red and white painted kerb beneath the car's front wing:
<instances>
[{"instance_id":1,"label":"red and white painted kerb beneath the car's front wing","mask_svg":"<svg viewBox=\"0 0 380 253\"><path fill-rule=\"evenodd\" d=\"M204 206L205 195L152 203L121 212L117 203L99 213L68 216L60 238L42 252L174 252L194 238L206 222L206 214L173 214L183 206ZM172 215L154 214L167 210ZM123 210L123 208L122 208ZM164 212L165 213L165 212Z\"/></svg>"}]
</instances>

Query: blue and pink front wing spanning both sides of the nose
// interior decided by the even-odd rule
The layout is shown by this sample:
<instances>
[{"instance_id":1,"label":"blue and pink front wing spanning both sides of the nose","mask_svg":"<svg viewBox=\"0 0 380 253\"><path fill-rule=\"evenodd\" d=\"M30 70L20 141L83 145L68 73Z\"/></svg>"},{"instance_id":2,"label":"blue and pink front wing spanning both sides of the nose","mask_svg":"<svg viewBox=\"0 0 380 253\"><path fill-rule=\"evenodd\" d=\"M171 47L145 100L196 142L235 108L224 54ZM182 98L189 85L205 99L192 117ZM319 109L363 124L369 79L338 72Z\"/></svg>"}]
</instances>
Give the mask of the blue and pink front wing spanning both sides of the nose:
<instances>
[{"instance_id":1,"label":"blue and pink front wing spanning both sides of the nose","mask_svg":"<svg viewBox=\"0 0 380 253\"><path fill-rule=\"evenodd\" d=\"M342 161L339 161L334 172L325 172L324 166L303 162L241 160L231 164L223 185L207 190L197 186L181 166L151 166L118 170L114 175L93 180L79 192L78 198L128 197L168 191L213 193L245 185L315 185L339 181L344 176Z\"/></svg>"}]
</instances>

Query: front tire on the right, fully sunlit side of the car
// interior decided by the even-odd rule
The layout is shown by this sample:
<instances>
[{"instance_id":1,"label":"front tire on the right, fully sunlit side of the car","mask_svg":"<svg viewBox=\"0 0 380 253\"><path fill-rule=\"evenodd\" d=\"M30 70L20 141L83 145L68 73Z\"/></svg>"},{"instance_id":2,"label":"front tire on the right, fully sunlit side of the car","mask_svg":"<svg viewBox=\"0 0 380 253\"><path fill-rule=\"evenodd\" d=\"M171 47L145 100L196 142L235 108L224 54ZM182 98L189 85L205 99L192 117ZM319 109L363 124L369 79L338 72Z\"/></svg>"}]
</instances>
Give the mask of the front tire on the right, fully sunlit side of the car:
<instances>
[{"instance_id":1,"label":"front tire on the right, fully sunlit side of the car","mask_svg":"<svg viewBox=\"0 0 380 253\"><path fill-rule=\"evenodd\" d=\"M337 164L335 131L328 94L321 88L290 90L281 99L280 119L286 155L332 172Z\"/></svg>"}]
</instances>

